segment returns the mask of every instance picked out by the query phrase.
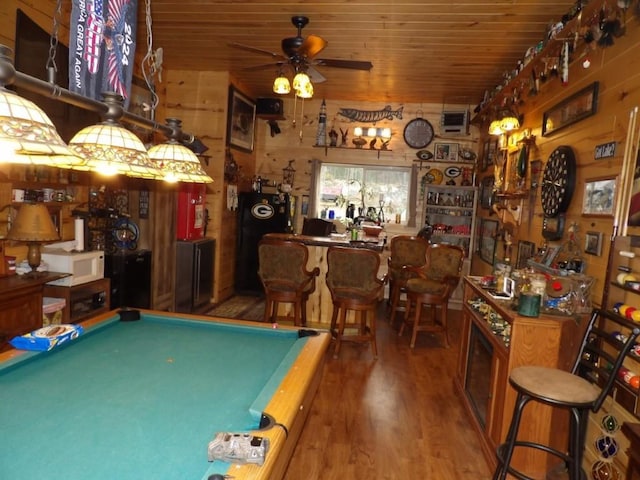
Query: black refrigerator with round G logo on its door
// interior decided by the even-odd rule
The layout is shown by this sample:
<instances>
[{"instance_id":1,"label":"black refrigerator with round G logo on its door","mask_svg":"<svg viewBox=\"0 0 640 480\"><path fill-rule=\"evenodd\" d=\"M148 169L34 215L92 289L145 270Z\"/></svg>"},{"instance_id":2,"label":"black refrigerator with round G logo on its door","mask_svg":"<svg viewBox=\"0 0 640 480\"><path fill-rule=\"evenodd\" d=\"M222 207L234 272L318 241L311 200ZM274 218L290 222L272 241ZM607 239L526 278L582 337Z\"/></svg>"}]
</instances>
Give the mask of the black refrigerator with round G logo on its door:
<instances>
[{"instance_id":1,"label":"black refrigerator with round G logo on its door","mask_svg":"<svg viewBox=\"0 0 640 480\"><path fill-rule=\"evenodd\" d=\"M235 291L260 295L258 242L266 233L292 230L294 204L288 194L240 193L238 195L238 235Z\"/></svg>"}]
</instances>

